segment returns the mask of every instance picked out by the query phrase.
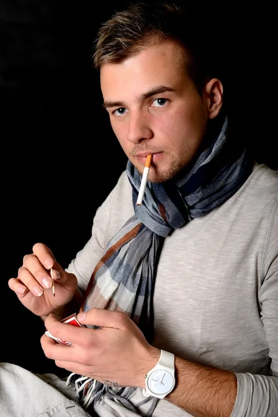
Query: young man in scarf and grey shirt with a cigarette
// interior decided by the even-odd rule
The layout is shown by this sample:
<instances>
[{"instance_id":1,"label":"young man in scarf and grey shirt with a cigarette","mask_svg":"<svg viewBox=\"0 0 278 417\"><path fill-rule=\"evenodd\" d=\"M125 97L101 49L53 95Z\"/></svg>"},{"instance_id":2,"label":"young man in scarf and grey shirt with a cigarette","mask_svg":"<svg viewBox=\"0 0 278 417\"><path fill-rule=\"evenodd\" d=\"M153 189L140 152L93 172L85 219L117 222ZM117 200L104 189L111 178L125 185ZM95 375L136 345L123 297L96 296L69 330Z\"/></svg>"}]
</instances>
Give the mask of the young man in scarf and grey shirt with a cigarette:
<instances>
[{"instance_id":1,"label":"young man in scarf and grey shirt with a cigarette","mask_svg":"<svg viewBox=\"0 0 278 417\"><path fill-rule=\"evenodd\" d=\"M129 161L68 268L37 243L9 281L72 344L41 338L65 380L1 364L3 416L277 416L277 172L231 135L195 24L147 2L99 30L104 107ZM75 311L83 327L60 322Z\"/></svg>"}]
</instances>

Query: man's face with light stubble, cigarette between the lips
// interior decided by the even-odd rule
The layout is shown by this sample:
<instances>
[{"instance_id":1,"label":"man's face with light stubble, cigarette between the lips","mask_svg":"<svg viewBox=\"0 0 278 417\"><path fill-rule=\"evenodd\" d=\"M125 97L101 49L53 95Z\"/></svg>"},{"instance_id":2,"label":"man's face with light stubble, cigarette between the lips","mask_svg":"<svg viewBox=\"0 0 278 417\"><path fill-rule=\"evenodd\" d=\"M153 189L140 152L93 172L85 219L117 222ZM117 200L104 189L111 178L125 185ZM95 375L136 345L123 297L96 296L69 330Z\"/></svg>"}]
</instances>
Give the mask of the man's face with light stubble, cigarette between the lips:
<instances>
[{"instance_id":1,"label":"man's face with light stubble, cigarette between the lips","mask_svg":"<svg viewBox=\"0 0 278 417\"><path fill-rule=\"evenodd\" d=\"M186 75L183 54L176 43L163 42L101 67L104 106L126 156L142 174L152 154L148 181L167 181L188 164L210 117L208 100Z\"/></svg>"}]
</instances>

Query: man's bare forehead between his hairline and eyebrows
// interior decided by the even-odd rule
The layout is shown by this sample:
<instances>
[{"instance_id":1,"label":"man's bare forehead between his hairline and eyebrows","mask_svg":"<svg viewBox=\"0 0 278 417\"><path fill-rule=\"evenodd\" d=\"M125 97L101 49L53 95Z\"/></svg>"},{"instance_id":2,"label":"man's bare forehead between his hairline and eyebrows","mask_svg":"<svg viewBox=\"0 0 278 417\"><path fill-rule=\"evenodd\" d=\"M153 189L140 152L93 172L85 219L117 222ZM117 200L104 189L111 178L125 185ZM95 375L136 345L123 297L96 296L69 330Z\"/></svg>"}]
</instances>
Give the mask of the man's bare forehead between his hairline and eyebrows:
<instances>
[{"instance_id":1,"label":"man's bare forehead between his hairline and eyebrows","mask_svg":"<svg viewBox=\"0 0 278 417\"><path fill-rule=\"evenodd\" d=\"M154 85L172 85L187 78L183 65L185 51L176 42L162 42L142 49L121 63L104 64L100 70L104 99L127 92L141 94Z\"/></svg>"}]
</instances>

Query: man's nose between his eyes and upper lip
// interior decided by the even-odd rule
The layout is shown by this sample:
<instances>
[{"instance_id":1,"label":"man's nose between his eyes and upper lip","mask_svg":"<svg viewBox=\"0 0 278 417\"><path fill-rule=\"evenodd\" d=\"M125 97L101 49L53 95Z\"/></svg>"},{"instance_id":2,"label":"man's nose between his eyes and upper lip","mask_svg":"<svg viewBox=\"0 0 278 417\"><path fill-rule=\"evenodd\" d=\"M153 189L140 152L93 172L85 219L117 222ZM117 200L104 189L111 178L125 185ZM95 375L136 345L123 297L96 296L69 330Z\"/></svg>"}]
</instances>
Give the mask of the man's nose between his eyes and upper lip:
<instances>
[{"instance_id":1,"label":"man's nose between his eyes and upper lip","mask_svg":"<svg viewBox=\"0 0 278 417\"><path fill-rule=\"evenodd\" d=\"M132 143L139 143L142 140L152 139L154 136L149 125L149 120L141 113L136 113L129 117L129 130L127 139Z\"/></svg>"}]
</instances>

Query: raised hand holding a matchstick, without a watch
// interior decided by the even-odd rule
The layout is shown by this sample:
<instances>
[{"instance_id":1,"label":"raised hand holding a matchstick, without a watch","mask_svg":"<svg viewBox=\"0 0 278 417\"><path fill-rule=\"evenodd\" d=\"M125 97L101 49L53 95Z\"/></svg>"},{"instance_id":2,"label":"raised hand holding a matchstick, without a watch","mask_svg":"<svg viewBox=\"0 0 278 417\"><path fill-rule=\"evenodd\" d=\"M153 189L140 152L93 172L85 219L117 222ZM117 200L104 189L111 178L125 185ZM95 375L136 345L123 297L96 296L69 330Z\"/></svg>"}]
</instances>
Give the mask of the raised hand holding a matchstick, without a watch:
<instances>
[{"instance_id":1,"label":"raised hand holding a matchstick, without a watch","mask_svg":"<svg viewBox=\"0 0 278 417\"><path fill-rule=\"evenodd\" d=\"M51 268L54 268L55 297L51 289ZM37 316L47 316L72 300L77 279L61 268L46 245L36 243L33 253L24 256L17 278L10 278L8 286L27 309Z\"/></svg>"}]
</instances>

